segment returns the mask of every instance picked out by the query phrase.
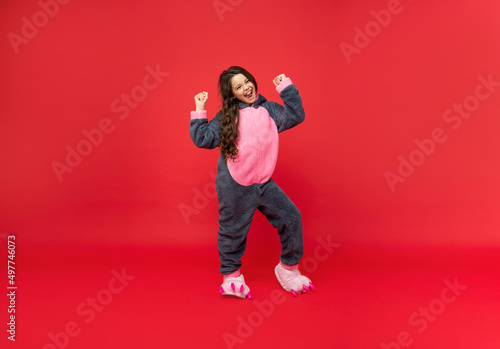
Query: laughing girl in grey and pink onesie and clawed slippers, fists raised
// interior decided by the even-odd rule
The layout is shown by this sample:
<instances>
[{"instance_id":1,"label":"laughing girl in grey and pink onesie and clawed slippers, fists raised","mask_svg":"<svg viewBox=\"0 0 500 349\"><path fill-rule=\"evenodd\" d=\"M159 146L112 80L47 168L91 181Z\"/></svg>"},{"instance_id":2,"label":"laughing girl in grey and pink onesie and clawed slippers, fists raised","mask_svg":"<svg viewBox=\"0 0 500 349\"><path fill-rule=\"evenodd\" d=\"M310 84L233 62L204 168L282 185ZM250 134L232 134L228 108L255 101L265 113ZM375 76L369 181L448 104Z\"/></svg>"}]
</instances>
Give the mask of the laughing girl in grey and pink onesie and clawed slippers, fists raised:
<instances>
[{"instance_id":1,"label":"laughing girl in grey and pink onesie and clawed slippers, fists raised","mask_svg":"<svg viewBox=\"0 0 500 349\"><path fill-rule=\"evenodd\" d=\"M290 78L281 74L273 82L285 107L257 94L252 74L237 66L219 77L222 110L210 122L205 110L208 93L194 97L196 111L191 112L189 129L194 144L221 150L215 185L222 295L252 298L239 268L256 209L278 229L282 251L275 275L281 286L294 296L314 290L311 280L298 270L304 253L300 211L271 178L278 157L278 133L300 124L305 114Z\"/></svg>"}]
</instances>

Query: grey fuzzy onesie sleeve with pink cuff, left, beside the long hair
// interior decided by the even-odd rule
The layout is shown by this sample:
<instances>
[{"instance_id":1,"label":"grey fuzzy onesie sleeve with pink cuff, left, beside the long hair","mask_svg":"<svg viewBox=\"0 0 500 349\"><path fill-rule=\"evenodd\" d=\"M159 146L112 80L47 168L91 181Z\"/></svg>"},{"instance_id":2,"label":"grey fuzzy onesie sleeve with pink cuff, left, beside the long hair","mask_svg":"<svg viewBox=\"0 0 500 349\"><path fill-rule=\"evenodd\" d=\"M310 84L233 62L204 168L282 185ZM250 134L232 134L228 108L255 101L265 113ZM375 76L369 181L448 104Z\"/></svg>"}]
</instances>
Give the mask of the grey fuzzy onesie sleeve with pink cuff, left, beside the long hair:
<instances>
[{"instance_id":1,"label":"grey fuzzy onesie sleeve with pink cuff, left, beside the long hair","mask_svg":"<svg viewBox=\"0 0 500 349\"><path fill-rule=\"evenodd\" d=\"M192 111L189 134L193 143L199 148L214 149L219 146L219 133L221 128L222 113L208 121L207 111Z\"/></svg>"}]
</instances>

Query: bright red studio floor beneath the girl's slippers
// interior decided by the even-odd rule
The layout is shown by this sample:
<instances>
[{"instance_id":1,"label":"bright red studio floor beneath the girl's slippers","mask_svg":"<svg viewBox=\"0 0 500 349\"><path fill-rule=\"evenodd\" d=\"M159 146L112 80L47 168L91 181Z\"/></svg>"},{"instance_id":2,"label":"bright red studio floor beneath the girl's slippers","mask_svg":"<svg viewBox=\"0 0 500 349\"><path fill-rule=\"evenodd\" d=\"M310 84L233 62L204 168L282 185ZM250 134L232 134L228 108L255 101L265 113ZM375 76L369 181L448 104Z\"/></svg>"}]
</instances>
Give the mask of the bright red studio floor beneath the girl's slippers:
<instances>
[{"instance_id":1,"label":"bright red studio floor beneath the girl's slippers","mask_svg":"<svg viewBox=\"0 0 500 349\"><path fill-rule=\"evenodd\" d=\"M215 247L73 253L41 246L29 258L19 250L16 342L5 332L2 342L44 349L500 347L493 251L318 246L309 244L305 266L316 291L297 298L280 289L273 254L249 249L243 273L252 300L218 294Z\"/></svg>"}]
</instances>

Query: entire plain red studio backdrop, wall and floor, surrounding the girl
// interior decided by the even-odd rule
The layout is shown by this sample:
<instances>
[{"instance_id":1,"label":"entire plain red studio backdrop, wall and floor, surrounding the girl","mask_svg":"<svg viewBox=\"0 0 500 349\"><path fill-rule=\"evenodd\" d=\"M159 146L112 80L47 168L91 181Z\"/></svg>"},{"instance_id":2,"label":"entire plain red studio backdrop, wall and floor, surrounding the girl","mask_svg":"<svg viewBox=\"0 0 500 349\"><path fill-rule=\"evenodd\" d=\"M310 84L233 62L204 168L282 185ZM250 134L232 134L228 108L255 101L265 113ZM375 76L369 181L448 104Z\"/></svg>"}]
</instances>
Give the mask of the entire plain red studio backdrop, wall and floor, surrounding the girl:
<instances>
[{"instance_id":1,"label":"entire plain red studio backdrop, wall and floor, surrounding the girl","mask_svg":"<svg viewBox=\"0 0 500 349\"><path fill-rule=\"evenodd\" d=\"M499 349L499 15L498 0L2 1L0 349ZM201 91L215 117L231 65L270 102L278 74L300 91L272 177L301 211L312 294L280 288L261 214L254 298L218 292L220 155L189 119ZM316 239L330 233L340 245Z\"/></svg>"}]
</instances>

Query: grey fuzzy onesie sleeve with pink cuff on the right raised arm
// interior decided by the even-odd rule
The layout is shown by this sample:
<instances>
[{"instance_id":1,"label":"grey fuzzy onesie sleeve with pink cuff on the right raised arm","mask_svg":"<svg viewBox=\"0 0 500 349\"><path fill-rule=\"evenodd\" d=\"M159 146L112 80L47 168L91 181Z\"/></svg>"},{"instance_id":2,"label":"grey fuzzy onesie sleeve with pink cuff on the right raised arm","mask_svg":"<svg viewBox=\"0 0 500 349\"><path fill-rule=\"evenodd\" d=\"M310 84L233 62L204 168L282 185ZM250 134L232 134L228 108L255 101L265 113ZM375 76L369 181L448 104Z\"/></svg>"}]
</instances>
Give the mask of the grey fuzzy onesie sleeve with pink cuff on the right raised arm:
<instances>
[{"instance_id":1,"label":"grey fuzzy onesie sleeve with pink cuff on the right raised arm","mask_svg":"<svg viewBox=\"0 0 500 349\"><path fill-rule=\"evenodd\" d=\"M268 111L276 122L278 132L283 132L304 121L305 112L304 108L302 108L302 98L299 95L299 90L290 78L285 78L276 86L276 91L280 94L285 106L283 107L276 102L268 102Z\"/></svg>"}]
</instances>

